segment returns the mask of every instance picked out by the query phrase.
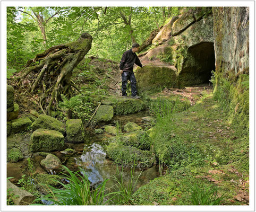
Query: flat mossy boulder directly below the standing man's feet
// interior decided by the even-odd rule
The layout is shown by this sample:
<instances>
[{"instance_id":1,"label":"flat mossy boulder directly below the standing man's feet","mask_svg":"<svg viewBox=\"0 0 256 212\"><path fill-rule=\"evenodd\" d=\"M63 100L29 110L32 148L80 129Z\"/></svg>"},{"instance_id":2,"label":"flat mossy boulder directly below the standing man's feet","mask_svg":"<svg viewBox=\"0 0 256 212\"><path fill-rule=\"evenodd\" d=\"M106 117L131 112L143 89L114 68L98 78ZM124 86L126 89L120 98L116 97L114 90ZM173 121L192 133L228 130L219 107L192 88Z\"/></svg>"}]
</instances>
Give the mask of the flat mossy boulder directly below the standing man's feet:
<instances>
[{"instance_id":1,"label":"flat mossy boulder directly below the standing man's feet","mask_svg":"<svg viewBox=\"0 0 256 212\"><path fill-rule=\"evenodd\" d=\"M146 109L146 105L140 99L123 99L118 98L113 100L114 114L125 115L136 113Z\"/></svg>"}]
</instances>

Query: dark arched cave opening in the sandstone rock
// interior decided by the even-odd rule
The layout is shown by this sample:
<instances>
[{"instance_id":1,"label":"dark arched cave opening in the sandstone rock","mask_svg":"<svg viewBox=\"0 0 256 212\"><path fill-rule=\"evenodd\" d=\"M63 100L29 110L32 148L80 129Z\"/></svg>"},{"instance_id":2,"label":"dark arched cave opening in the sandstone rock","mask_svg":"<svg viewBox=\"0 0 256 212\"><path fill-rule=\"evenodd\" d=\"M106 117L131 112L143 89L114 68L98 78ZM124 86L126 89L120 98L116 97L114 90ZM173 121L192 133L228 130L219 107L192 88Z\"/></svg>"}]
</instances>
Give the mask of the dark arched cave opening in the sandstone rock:
<instances>
[{"instance_id":1,"label":"dark arched cave opening in the sandstone rock","mask_svg":"<svg viewBox=\"0 0 256 212\"><path fill-rule=\"evenodd\" d=\"M179 84L197 85L209 83L212 70L215 70L214 43L201 42L188 49L179 74Z\"/></svg>"}]
</instances>

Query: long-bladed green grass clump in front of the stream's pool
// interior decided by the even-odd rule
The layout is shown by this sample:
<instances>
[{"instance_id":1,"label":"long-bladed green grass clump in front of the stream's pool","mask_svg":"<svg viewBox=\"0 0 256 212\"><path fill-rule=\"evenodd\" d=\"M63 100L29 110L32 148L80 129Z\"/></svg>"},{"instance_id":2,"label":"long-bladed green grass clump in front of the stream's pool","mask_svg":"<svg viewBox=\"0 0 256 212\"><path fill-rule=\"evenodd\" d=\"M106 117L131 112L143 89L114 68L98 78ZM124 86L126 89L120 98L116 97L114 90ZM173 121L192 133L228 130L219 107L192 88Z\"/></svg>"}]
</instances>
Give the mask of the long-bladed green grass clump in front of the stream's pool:
<instances>
[{"instance_id":1,"label":"long-bladed green grass clump in front of the stream's pool","mask_svg":"<svg viewBox=\"0 0 256 212\"><path fill-rule=\"evenodd\" d=\"M40 198L41 200L49 201L50 205L106 205L110 200L105 200L108 195L113 194L105 194L107 180L104 180L95 190L91 191L90 181L84 170L80 168L79 171L72 172L66 166L63 166L63 169L67 172L67 174L63 174L69 183L59 182L63 186L62 189L49 186L48 194Z\"/></svg>"}]
</instances>

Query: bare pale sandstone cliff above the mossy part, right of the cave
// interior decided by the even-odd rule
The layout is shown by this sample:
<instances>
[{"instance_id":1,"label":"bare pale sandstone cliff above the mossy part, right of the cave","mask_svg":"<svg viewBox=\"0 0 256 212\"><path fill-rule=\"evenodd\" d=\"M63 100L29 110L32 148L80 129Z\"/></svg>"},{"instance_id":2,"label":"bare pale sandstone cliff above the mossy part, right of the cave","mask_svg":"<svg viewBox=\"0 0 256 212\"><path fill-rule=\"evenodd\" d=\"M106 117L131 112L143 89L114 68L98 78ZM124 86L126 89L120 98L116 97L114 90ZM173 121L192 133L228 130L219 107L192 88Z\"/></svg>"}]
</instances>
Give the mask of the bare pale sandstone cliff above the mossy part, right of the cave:
<instances>
[{"instance_id":1,"label":"bare pale sandstone cliff above the mossy part, right of the cave","mask_svg":"<svg viewBox=\"0 0 256 212\"><path fill-rule=\"evenodd\" d=\"M212 7L212 12L216 71L231 79L249 74L249 7Z\"/></svg>"}]
</instances>

